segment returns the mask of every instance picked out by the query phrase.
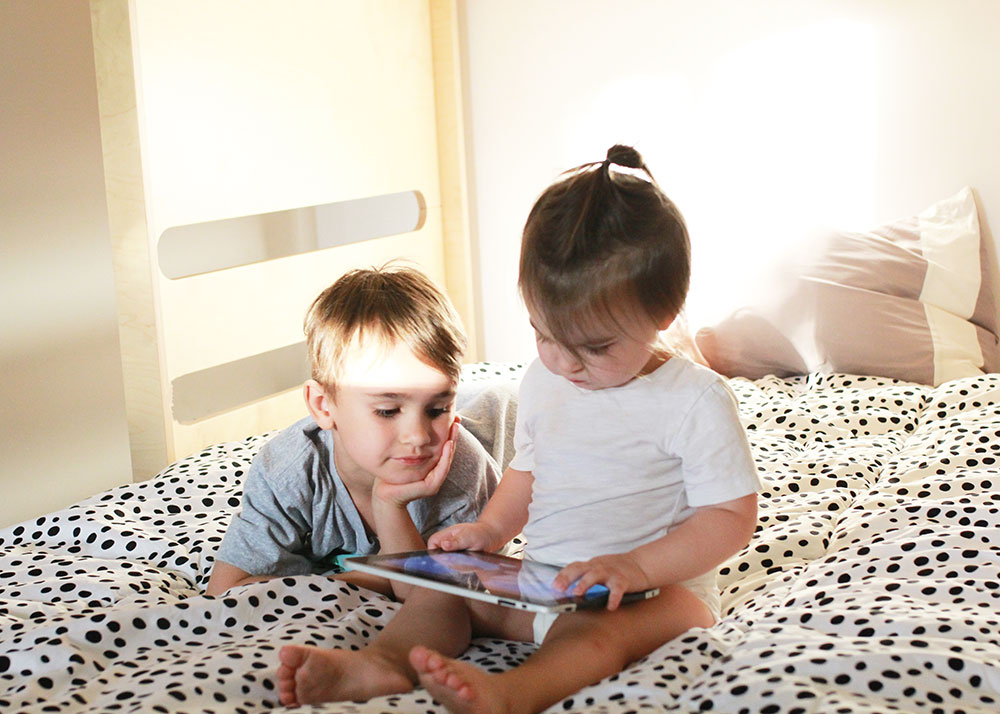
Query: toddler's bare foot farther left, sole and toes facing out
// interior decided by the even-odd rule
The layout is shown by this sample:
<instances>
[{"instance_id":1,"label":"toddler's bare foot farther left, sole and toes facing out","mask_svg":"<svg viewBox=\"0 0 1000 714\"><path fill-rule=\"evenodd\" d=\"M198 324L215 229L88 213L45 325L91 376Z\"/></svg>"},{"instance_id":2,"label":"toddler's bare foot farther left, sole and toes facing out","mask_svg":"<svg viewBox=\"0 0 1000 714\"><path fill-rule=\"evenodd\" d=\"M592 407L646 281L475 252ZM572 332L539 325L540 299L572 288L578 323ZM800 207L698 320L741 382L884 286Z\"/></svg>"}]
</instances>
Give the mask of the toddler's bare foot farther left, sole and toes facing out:
<instances>
[{"instance_id":1,"label":"toddler's bare foot farther left, sole and toes facing out","mask_svg":"<svg viewBox=\"0 0 1000 714\"><path fill-rule=\"evenodd\" d=\"M371 647L353 652L286 645L278 659L278 699L286 707L366 701L413 689L408 674Z\"/></svg>"}]
</instances>

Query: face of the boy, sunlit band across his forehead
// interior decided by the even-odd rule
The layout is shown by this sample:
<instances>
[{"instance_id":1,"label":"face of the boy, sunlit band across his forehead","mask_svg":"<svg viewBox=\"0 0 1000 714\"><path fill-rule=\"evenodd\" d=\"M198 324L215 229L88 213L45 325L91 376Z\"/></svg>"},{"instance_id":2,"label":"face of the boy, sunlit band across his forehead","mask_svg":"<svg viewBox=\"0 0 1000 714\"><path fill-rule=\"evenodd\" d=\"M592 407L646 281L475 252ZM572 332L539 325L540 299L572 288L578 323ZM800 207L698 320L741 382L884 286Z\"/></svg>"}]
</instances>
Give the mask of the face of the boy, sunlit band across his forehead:
<instances>
[{"instance_id":1,"label":"face of the boy, sunlit band across his forehead","mask_svg":"<svg viewBox=\"0 0 1000 714\"><path fill-rule=\"evenodd\" d=\"M455 383L405 344L348 350L331 402L341 478L419 481L434 467L455 418Z\"/></svg>"}]
</instances>

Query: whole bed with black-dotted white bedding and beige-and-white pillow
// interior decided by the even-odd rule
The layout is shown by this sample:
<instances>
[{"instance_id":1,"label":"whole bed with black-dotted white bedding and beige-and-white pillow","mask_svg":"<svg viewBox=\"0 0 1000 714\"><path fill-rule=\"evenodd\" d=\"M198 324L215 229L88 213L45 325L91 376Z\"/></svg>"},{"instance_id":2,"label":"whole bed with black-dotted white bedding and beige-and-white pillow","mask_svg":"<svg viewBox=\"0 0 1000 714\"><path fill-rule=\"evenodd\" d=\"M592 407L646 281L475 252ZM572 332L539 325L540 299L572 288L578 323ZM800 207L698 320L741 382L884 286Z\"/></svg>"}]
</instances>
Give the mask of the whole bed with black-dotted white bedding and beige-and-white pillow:
<instances>
[{"instance_id":1,"label":"whole bed with black-dotted white bedding and beige-and-white pillow","mask_svg":"<svg viewBox=\"0 0 1000 714\"><path fill-rule=\"evenodd\" d=\"M718 623L552 711L1000 711L996 266L977 216L963 189L834 232L769 301L681 339L739 401L763 481L756 531L719 568ZM523 369L467 365L460 402L515 393ZM475 425L501 464L513 421L505 408ZM282 644L365 646L398 604L355 586L203 594L273 433L0 530L0 709L274 710ZM502 670L532 647L479 639L465 657ZM441 707L418 689L314 710Z\"/></svg>"}]
</instances>

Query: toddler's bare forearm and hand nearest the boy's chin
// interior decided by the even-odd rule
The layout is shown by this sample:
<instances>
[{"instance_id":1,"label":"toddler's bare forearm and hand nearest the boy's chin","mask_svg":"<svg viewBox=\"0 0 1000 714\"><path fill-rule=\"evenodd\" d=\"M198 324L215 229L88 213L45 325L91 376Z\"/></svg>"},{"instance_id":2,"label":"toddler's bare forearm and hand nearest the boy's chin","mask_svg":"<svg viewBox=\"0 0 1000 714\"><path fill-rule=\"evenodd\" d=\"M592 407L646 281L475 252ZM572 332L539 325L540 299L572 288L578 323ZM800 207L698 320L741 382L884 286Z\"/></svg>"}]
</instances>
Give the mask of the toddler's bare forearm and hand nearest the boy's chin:
<instances>
[{"instance_id":1,"label":"toddler's bare forearm and hand nearest the boy's chin","mask_svg":"<svg viewBox=\"0 0 1000 714\"><path fill-rule=\"evenodd\" d=\"M534 480L530 471L508 468L475 523L459 523L438 531L427 545L441 550L499 550L528 522Z\"/></svg>"}]
</instances>

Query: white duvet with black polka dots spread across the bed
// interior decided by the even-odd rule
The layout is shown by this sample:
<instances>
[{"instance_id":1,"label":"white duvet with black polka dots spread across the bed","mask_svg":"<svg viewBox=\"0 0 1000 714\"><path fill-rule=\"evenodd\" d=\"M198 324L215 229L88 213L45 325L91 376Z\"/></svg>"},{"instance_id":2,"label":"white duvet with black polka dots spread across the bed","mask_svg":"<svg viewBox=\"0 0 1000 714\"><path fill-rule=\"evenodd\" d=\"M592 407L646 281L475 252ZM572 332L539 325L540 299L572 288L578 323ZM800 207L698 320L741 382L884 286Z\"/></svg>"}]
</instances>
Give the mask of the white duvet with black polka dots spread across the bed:
<instances>
[{"instance_id":1,"label":"white duvet with black polka dots spread across the bed","mask_svg":"<svg viewBox=\"0 0 1000 714\"><path fill-rule=\"evenodd\" d=\"M552 711L1000 712L1000 375L730 384L764 491L719 570L722 619ZM0 530L0 709L272 711L282 644L359 648L385 625L396 604L316 576L203 594L267 438ZM500 671L532 649L465 657ZM307 710L443 711L420 689Z\"/></svg>"}]
</instances>

